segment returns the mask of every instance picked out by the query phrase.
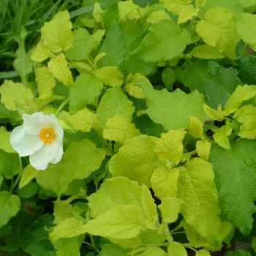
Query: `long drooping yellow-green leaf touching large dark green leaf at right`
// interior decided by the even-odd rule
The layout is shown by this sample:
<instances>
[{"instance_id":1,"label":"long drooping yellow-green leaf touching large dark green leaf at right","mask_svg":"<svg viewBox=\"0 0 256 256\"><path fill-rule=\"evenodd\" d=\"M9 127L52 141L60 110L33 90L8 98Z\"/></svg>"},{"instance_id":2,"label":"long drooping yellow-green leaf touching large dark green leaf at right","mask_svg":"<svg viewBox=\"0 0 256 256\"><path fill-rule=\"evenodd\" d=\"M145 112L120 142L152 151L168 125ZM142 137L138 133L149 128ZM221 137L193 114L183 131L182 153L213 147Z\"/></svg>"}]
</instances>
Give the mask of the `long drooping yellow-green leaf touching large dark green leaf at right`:
<instances>
[{"instance_id":1,"label":"long drooping yellow-green leaf touching large dark green leaf at right","mask_svg":"<svg viewBox=\"0 0 256 256\"><path fill-rule=\"evenodd\" d=\"M210 244L220 246L221 208L211 164L194 158L187 168L181 168L178 176L178 198L184 200L181 214L200 236Z\"/></svg>"}]
</instances>

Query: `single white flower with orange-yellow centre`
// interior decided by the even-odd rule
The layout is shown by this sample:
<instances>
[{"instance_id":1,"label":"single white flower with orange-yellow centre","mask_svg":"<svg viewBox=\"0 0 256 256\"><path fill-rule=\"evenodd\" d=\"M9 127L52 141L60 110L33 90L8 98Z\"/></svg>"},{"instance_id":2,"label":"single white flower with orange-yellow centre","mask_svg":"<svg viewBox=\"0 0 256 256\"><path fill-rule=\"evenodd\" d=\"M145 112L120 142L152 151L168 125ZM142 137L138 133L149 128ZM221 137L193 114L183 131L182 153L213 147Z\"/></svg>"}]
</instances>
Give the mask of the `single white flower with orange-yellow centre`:
<instances>
[{"instance_id":1,"label":"single white flower with orange-yellow centre","mask_svg":"<svg viewBox=\"0 0 256 256\"><path fill-rule=\"evenodd\" d=\"M43 113L23 114L24 122L15 127L10 143L20 157L29 157L37 170L45 170L49 162L56 164L63 155L63 129L56 116Z\"/></svg>"}]
</instances>

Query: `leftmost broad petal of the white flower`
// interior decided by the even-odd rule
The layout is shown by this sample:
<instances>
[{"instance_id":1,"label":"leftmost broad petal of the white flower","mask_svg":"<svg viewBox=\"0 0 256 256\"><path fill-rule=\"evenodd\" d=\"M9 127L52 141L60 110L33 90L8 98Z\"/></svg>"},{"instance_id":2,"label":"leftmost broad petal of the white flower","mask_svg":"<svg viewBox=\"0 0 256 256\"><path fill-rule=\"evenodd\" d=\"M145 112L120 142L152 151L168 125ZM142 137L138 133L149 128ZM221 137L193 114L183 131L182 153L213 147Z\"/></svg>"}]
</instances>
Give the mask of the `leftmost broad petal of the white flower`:
<instances>
[{"instance_id":1,"label":"leftmost broad petal of the white flower","mask_svg":"<svg viewBox=\"0 0 256 256\"><path fill-rule=\"evenodd\" d=\"M10 135L12 148L18 152L20 157L26 157L38 151L43 146L38 135L29 135L23 126L15 127Z\"/></svg>"}]
</instances>

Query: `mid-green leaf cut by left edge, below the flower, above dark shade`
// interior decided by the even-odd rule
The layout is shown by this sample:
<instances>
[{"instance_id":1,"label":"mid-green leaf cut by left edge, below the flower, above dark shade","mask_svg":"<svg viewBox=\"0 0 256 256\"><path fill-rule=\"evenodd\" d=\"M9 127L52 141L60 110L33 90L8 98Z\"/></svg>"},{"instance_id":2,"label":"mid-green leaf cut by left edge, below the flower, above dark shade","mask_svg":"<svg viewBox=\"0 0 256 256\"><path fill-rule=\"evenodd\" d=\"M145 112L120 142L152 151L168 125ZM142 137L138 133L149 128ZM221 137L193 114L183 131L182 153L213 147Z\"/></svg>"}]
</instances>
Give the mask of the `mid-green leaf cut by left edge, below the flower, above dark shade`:
<instances>
[{"instance_id":1,"label":"mid-green leaf cut by left edge, below the flower, above dark shade","mask_svg":"<svg viewBox=\"0 0 256 256\"><path fill-rule=\"evenodd\" d=\"M20 197L7 191L0 192L0 227L7 225L12 217L20 210Z\"/></svg>"}]
</instances>

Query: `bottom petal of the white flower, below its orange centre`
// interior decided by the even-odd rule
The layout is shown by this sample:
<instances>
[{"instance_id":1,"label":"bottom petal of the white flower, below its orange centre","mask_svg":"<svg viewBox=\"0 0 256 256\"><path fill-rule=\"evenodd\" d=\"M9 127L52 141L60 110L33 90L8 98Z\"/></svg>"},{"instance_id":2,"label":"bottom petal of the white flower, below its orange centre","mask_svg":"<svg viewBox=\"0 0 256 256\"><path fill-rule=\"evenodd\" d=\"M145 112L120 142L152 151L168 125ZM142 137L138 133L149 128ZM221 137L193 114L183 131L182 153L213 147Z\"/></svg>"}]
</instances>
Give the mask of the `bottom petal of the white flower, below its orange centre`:
<instances>
[{"instance_id":1,"label":"bottom petal of the white flower, below its orange centre","mask_svg":"<svg viewBox=\"0 0 256 256\"><path fill-rule=\"evenodd\" d=\"M53 140L51 143L45 143L39 151L34 152L29 157L30 164L37 170L45 170L49 162L56 158L61 145Z\"/></svg>"}]
</instances>

